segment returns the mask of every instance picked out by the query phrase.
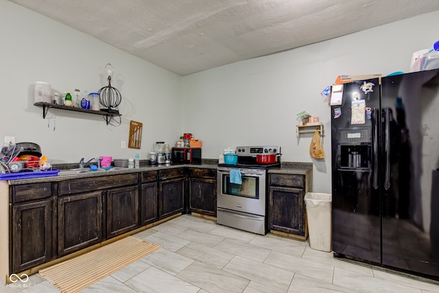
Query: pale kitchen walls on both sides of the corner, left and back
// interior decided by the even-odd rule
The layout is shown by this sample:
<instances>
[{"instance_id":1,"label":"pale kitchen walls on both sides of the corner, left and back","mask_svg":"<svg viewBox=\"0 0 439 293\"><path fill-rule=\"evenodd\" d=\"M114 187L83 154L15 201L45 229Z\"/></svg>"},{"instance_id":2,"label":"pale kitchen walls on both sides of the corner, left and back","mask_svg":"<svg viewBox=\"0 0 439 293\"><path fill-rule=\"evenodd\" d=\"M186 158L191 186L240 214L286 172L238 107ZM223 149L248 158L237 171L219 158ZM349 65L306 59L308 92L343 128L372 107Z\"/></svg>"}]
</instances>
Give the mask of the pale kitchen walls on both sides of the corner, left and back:
<instances>
[{"instance_id":1,"label":"pale kitchen walls on both sides of the corner, left and back","mask_svg":"<svg viewBox=\"0 0 439 293\"><path fill-rule=\"evenodd\" d=\"M202 156L209 159L227 146L276 143L283 161L314 163L316 192L331 192L331 113L320 91L337 75L408 71L412 52L439 38L439 12L431 12L181 77L9 1L0 0L0 11L1 140L38 143L57 163L137 152L147 159L154 141L174 143L183 132L203 141ZM59 91L97 91L107 85L108 62L115 69L112 85L123 98L121 126L62 110L49 110L50 119L43 119L33 105L34 82ZM296 137L296 113L302 110L324 123L324 160L309 156L311 134ZM141 150L121 150L130 120L143 123Z\"/></svg>"}]
</instances>

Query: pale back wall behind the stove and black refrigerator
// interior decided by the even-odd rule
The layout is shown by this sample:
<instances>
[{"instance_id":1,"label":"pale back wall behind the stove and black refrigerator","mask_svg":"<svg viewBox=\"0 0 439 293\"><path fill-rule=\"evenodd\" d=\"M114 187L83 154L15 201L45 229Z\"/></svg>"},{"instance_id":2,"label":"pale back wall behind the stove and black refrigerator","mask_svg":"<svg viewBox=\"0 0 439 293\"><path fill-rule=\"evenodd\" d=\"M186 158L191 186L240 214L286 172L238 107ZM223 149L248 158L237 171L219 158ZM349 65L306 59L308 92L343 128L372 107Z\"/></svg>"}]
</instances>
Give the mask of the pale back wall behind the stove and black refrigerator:
<instances>
[{"instance_id":1,"label":"pale back wall behind the stove and black refrigerator","mask_svg":"<svg viewBox=\"0 0 439 293\"><path fill-rule=\"evenodd\" d=\"M438 40L438 25L439 12L432 12L187 75L183 130L202 139L203 156L209 158L227 146L281 145L283 161L314 163L313 191L331 192L331 113L320 92L337 75L408 72L412 53ZM324 123L324 160L309 156L312 134L296 137L296 113L302 110Z\"/></svg>"}]
</instances>

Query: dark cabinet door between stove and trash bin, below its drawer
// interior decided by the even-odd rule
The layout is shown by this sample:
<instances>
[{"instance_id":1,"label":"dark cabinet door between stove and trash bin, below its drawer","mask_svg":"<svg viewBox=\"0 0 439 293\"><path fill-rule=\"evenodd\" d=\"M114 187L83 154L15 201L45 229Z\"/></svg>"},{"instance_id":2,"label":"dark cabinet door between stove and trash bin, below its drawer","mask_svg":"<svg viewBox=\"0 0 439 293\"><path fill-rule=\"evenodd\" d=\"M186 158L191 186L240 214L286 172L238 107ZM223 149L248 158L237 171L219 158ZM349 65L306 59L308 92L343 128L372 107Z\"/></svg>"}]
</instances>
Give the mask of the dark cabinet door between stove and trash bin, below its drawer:
<instances>
[{"instance_id":1,"label":"dark cabinet door between stove and trash bin, below its drawer","mask_svg":"<svg viewBox=\"0 0 439 293\"><path fill-rule=\"evenodd\" d=\"M270 229L307 237L305 192L270 186Z\"/></svg>"}]
</instances>

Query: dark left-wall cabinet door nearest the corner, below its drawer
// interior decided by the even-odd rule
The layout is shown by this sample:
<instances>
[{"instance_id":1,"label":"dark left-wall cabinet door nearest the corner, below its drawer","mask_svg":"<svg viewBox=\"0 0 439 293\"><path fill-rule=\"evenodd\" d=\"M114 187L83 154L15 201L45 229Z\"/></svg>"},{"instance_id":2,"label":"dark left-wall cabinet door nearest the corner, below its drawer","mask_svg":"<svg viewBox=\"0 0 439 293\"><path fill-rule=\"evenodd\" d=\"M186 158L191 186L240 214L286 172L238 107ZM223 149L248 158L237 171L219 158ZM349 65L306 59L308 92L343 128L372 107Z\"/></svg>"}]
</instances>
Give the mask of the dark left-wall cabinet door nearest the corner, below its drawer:
<instances>
[{"instance_id":1,"label":"dark left-wall cabinet door nearest the corner, below its drawer","mask_svg":"<svg viewBox=\"0 0 439 293\"><path fill-rule=\"evenodd\" d=\"M183 211L185 178L158 183L158 218L163 219Z\"/></svg>"}]
</instances>

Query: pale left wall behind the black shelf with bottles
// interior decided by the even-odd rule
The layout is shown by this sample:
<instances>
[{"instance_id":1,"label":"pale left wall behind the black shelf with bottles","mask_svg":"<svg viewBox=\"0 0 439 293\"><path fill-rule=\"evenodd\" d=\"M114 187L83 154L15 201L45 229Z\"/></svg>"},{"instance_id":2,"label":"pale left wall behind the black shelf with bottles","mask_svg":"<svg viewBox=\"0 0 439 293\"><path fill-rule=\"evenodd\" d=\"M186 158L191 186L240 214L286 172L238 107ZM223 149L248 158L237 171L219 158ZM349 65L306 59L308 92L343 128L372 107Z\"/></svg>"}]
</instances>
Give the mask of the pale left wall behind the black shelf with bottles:
<instances>
[{"instance_id":1,"label":"pale left wall behind the black shelf with bottles","mask_svg":"<svg viewBox=\"0 0 439 293\"><path fill-rule=\"evenodd\" d=\"M1 143L14 136L17 142L38 143L56 163L75 163L100 155L123 159L139 153L147 159L154 141L179 137L180 75L9 1L0 1L0 11ZM34 106L34 82L91 93L108 85L108 62L115 70L112 86L122 95L121 126L66 110L49 110L50 119L43 119L42 108ZM130 120L143 123L141 150L121 149L121 141L128 146Z\"/></svg>"}]
</instances>

